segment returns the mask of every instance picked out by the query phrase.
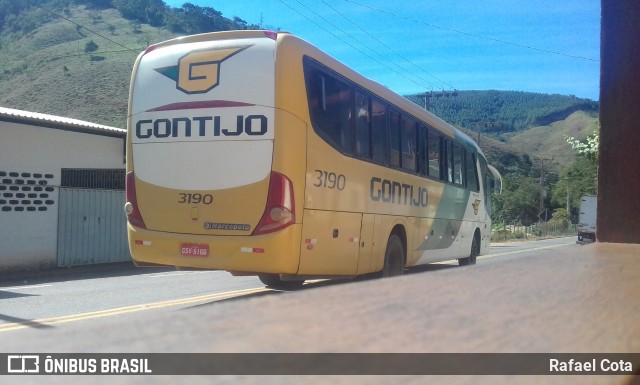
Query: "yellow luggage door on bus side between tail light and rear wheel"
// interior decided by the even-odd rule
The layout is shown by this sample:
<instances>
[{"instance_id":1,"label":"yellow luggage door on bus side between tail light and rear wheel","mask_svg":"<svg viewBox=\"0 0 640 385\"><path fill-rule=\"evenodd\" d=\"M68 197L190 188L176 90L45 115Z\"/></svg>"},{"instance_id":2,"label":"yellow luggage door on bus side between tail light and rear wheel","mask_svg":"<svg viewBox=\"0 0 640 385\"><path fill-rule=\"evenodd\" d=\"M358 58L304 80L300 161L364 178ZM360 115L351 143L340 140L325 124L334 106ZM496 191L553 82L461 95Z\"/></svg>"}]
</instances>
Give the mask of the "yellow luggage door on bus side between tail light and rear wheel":
<instances>
[{"instance_id":1,"label":"yellow luggage door on bus side between tail light and rear wheel","mask_svg":"<svg viewBox=\"0 0 640 385\"><path fill-rule=\"evenodd\" d=\"M304 210L299 275L355 275L362 214Z\"/></svg>"}]
</instances>

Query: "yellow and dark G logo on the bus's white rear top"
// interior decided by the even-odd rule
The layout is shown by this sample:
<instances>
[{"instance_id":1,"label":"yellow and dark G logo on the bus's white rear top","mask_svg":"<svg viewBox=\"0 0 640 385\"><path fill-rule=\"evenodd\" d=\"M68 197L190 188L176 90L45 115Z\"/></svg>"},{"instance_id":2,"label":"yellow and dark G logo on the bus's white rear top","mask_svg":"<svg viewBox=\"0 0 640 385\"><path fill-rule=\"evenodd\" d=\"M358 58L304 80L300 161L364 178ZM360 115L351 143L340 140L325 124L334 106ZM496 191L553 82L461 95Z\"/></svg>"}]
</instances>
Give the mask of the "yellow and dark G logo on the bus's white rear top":
<instances>
[{"instance_id":1,"label":"yellow and dark G logo on the bus's white rear top","mask_svg":"<svg viewBox=\"0 0 640 385\"><path fill-rule=\"evenodd\" d=\"M176 82L185 94L203 94L220 83L220 65L231 56L250 46L193 51L178 60L177 66L156 68L156 71Z\"/></svg>"}]
</instances>

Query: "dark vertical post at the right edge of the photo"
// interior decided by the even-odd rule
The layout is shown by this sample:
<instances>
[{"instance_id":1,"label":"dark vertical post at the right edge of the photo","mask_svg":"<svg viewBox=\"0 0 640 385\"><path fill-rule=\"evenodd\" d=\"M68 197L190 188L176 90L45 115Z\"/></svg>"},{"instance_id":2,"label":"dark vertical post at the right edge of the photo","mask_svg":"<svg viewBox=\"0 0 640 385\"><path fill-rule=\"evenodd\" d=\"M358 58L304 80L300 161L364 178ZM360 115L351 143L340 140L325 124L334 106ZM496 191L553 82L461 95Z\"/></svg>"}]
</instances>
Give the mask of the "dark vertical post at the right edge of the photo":
<instances>
[{"instance_id":1,"label":"dark vertical post at the right edge of the photo","mask_svg":"<svg viewBox=\"0 0 640 385\"><path fill-rule=\"evenodd\" d=\"M597 238L640 243L640 2L601 4Z\"/></svg>"}]
</instances>

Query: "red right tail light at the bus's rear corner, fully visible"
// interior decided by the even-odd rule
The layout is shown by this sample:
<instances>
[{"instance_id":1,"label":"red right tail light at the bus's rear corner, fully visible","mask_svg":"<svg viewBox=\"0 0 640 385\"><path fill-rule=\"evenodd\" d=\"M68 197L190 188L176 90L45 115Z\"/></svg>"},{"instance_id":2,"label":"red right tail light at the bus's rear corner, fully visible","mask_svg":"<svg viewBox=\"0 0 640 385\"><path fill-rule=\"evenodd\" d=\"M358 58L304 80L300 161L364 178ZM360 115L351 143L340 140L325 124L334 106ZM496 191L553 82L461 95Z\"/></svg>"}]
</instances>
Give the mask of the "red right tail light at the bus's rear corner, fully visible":
<instances>
[{"instance_id":1,"label":"red right tail light at the bus's rear corner, fully visible","mask_svg":"<svg viewBox=\"0 0 640 385\"><path fill-rule=\"evenodd\" d=\"M286 176L272 172L269 180L267 205L252 235L262 235L282 230L295 223L296 209L293 183Z\"/></svg>"}]
</instances>

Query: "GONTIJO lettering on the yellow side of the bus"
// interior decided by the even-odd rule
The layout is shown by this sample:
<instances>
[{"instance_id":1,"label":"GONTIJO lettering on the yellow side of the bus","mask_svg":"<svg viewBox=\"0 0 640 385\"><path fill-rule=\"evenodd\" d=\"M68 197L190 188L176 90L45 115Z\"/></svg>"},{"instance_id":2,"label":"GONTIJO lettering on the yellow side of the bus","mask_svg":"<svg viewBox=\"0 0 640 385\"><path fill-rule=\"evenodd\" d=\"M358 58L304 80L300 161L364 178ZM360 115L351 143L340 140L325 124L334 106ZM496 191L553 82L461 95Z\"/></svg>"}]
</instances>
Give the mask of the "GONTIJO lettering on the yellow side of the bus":
<instances>
[{"instance_id":1,"label":"GONTIJO lettering on the yellow side of the bus","mask_svg":"<svg viewBox=\"0 0 640 385\"><path fill-rule=\"evenodd\" d=\"M429 192L424 187L415 187L378 177L371 178L371 200L415 207L427 207Z\"/></svg>"}]
</instances>

